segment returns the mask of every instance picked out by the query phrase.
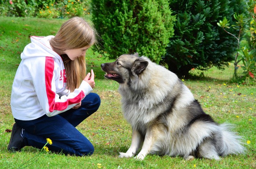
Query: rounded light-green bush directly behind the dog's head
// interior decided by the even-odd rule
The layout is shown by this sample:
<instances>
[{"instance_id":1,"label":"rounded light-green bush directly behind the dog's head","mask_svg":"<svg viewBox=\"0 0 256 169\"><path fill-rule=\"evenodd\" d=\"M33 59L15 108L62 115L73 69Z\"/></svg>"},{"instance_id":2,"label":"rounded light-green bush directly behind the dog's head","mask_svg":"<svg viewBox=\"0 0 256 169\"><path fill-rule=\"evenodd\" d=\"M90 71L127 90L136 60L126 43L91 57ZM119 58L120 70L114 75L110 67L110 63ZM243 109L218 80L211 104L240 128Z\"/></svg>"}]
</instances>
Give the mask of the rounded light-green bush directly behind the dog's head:
<instances>
[{"instance_id":1,"label":"rounded light-green bush directly behind the dog's head","mask_svg":"<svg viewBox=\"0 0 256 169\"><path fill-rule=\"evenodd\" d=\"M159 63L175 20L167 0L93 0L91 6L105 56L138 52Z\"/></svg>"}]
</instances>

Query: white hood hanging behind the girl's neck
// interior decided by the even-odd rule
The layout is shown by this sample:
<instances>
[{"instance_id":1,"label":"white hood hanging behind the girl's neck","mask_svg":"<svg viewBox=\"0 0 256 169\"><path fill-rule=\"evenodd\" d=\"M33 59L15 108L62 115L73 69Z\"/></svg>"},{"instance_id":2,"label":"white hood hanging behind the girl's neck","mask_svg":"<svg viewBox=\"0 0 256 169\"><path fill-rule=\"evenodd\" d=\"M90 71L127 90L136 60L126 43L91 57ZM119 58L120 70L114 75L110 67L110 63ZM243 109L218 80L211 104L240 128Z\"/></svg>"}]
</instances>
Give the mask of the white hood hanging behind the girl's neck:
<instances>
[{"instance_id":1,"label":"white hood hanging behind the girl's neck","mask_svg":"<svg viewBox=\"0 0 256 169\"><path fill-rule=\"evenodd\" d=\"M61 57L52 50L49 40L54 38L53 35L42 37L42 36L31 36L31 43L28 44L20 55L21 59L27 59L31 57L52 57L61 59Z\"/></svg>"}]
</instances>

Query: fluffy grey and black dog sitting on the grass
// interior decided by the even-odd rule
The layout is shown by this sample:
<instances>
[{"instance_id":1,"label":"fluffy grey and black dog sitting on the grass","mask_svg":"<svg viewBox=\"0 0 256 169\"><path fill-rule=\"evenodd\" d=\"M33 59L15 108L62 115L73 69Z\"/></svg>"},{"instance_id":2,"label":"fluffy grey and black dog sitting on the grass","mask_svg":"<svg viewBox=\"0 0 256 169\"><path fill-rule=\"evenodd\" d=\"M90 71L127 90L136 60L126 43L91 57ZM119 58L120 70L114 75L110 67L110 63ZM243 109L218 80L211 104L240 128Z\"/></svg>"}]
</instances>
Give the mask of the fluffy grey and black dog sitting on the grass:
<instances>
[{"instance_id":1,"label":"fluffy grey and black dog sitting on the grass","mask_svg":"<svg viewBox=\"0 0 256 169\"><path fill-rule=\"evenodd\" d=\"M191 91L165 67L146 57L121 55L101 64L105 77L116 80L123 115L132 126L132 143L119 157L147 154L183 156L186 160L244 153L241 137L230 125L217 124L204 113Z\"/></svg>"}]
</instances>

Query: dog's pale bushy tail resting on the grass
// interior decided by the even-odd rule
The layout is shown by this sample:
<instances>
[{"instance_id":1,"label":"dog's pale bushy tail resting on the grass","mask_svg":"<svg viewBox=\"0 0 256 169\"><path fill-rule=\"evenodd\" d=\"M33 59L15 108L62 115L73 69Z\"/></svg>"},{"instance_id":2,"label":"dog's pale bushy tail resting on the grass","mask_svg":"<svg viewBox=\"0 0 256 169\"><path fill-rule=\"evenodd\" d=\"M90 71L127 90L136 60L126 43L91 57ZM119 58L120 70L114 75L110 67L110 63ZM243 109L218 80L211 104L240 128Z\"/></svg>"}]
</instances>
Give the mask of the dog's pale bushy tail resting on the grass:
<instances>
[{"instance_id":1,"label":"dog's pale bushy tail resting on the grass","mask_svg":"<svg viewBox=\"0 0 256 169\"><path fill-rule=\"evenodd\" d=\"M245 153L244 139L231 131L233 126L223 123L220 127L222 131L222 146L219 149L219 154L226 156L228 154Z\"/></svg>"}]
</instances>

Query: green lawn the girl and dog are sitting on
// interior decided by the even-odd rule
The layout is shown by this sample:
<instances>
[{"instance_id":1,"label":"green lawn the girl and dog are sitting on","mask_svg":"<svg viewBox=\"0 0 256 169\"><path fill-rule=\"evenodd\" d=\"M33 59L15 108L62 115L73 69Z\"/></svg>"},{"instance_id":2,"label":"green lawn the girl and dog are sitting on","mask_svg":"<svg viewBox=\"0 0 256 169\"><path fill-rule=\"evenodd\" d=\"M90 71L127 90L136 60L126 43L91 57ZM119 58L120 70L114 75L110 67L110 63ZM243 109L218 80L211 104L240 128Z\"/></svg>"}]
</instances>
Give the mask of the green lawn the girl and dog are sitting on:
<instances>
[{"instance_id":1,"label":"green lawn the girl and dog are sitting on","mask_svg":"<svg viewBox=\"0 0 256 169\"><path fill-rule=\"evenodd\" d=\"M32 147L25 147L18 153L7 151L11 133L5 130L11 129L14 123L10 96L20 53L30 42L30 35L54 35L63 22L61 19L0 17L0 167L3 169L18 168L23 162L39 154L39 150ZM204 72L205 77L185 79L184 83L206 113L217 122L235 124L234 131L245 139L246 154L227 156L220 161L185 161L181 157L152 155L147 156L144 161L137 161L133 158L118 158L118 152L125 152L131 144L131 126L122 115L118 83L104 79L104 72L100 68L101 63L110 61L91 50L87 52L86 58L87 70L92 68L96 75L94 92L100 95L102 103L99 110L77 128L93 143L94 154L90 157L75 157L43 153L27 168L96 169L99 164L106 169L185 169L194 168L194 165L196 168L256 168L256 87L237 87L237 84L230 83L232 64L225 70L211 68ZM194 72L197 74L198 71ZM251 144L246 144L247 140Z\"/></svg>"}]
</instances>

